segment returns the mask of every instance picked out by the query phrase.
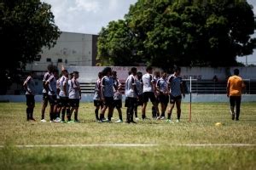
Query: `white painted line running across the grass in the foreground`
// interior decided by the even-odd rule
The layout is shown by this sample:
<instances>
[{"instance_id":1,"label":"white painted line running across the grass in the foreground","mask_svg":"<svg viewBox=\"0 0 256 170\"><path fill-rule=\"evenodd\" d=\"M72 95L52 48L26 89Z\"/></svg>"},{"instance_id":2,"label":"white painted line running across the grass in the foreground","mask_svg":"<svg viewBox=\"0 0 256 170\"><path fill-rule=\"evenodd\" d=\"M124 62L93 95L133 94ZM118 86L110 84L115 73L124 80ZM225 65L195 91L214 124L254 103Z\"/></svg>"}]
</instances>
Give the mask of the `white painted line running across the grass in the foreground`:
<instances>
[{"instance_id":1,"label":"white painted line running across the grass in the foreground","mask_svg":"<svg viewBox=\"0 0 256 170\"><path fill-rule=\"evenodd\" d=\"M153 147L165 144L26 144L14 145L18 148L44 148L44 147ZM188 147L253 147L256 144L168 144L168 146L188 146ZM0 145L0 148L5 145Z\"/></svg>"}]
</instances>

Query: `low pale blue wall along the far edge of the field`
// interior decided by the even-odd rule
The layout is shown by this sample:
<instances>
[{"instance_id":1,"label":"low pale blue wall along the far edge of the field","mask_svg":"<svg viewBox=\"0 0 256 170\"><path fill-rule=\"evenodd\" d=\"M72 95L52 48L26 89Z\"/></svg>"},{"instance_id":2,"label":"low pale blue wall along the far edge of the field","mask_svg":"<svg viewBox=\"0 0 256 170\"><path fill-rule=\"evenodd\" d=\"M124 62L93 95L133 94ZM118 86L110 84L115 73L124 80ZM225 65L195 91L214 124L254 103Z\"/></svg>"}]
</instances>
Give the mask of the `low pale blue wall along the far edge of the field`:
<instances>
[{"instance_id":1,"label":"low pale blue wall along the far edge of the field","mask_svg":"<svg viewBox=\"0 0 256 170\"><path fill-rule=\"evenodd\" d=\"M36 95L36 102L42 101L42 95ZM125 96L123 96L125 100ZM242 102L256 102L256 94L244 94L241 97ZM25 95L0 95L0 102L26 102ZM81 102L93 102L93 94L82 94ZM189 102L189 94L183 99L183 102ZM192 102L229 102L225 94L192 94ZM26 104L24 104L26 105Z\"/></svg>"}]
</instances>

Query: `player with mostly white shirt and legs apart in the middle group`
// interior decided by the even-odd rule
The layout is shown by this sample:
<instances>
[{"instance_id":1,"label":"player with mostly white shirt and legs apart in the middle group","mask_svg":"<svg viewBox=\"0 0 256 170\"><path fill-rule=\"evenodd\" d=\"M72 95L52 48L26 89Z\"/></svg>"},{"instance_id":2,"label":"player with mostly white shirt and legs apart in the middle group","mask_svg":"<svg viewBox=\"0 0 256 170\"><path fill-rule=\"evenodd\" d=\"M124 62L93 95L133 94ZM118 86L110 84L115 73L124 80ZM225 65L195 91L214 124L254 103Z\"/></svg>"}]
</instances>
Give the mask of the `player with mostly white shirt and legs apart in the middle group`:
<instances>
[{"instance_id":1,"label":"player with mostly white shirt and legs apart in the middle group","mask_svg":"<svg viewBox=\"0 0 256 170\"><path fill-rule=\"evenodd\" d=\"M159 110L157 107L156 99L155 99L155 87L154 87L154 79L152 76L152 67L148 66L146 69L147 73L143 75L143 109L142 109L142 117L145 120L146 117L146 107L148 104L148 99L150 99L152 105L156 109L156 113L159 114Z\"/></svg>"}]
</instances>

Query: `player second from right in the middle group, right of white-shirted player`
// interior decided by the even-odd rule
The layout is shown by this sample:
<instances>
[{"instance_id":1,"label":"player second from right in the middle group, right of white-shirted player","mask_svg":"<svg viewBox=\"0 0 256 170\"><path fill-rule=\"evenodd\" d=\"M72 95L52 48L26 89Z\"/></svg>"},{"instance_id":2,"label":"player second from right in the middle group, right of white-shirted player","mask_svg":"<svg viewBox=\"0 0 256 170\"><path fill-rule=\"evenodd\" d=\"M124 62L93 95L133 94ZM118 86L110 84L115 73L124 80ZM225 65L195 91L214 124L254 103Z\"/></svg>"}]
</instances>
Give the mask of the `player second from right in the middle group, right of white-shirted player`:
<instances>
[{"instance_id":1,"label":"player second from right in the middle group, right of white-shirted player","mask_svg":"<svg viewBox=\"0 0 256 170\"><path fill-rule=\"evenodd\" d=\"M161 105L161 115L157 119L165 119L165 112L169 102L169 92L167 83L167 73L162 72L160 79L156 82L156 90L158 91L158 99Z\"/></svg>"}]
</instances>

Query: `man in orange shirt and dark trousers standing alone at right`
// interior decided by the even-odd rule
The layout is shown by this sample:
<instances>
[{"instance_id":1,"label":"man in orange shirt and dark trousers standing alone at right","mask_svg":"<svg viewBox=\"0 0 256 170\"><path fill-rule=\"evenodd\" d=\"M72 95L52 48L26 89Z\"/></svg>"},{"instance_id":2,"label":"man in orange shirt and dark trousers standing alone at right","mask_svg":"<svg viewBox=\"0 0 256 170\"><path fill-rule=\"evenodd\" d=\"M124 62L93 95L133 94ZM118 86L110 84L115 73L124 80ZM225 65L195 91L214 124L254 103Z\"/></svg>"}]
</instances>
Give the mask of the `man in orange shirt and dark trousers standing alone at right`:
<instances>
[{"instance_id":1,"label":"man in orange shirt and dark trousers standing alone at right","mask_svg":"<svg viewBox=\"0 0 256 170\"><path fill-rule=\"evenodd\" d=\"M235 119L235 105L236 105L236 121L239 120L240 105L241 105L241 90L245 88L239 70L234 70L234 76L230 77L227 84L227 96L230 98L230 111L232 120Z\"/></svg>"}]
</instances>

